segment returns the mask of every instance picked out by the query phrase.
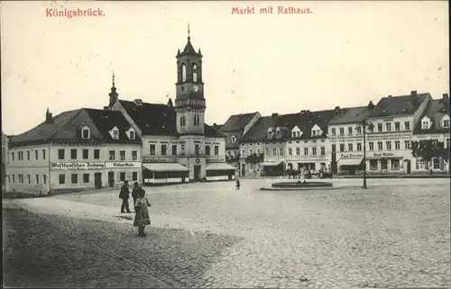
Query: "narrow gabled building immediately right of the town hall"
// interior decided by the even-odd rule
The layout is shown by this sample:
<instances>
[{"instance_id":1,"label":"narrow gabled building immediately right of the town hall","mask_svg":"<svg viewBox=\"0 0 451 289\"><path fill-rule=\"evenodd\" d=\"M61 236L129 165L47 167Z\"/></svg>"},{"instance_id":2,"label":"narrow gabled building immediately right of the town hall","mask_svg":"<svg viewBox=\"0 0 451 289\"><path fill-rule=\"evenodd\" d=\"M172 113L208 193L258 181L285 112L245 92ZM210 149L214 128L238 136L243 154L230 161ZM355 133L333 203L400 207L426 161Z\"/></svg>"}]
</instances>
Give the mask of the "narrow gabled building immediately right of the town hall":
<instances>
[{"instance_id":1,"label":"narrow gabled building immediately right of the town hall","mask_svg":"<svg viewBox=\"0 0 451 289\"><path fill-rule=\"evenodd\" d=\"M221 127L221 132L227 135L226 159L236 170L240 167L240 141L243 135L252 128L261 117L260 113L234 114Z\"/></svg>"}]
</instances>

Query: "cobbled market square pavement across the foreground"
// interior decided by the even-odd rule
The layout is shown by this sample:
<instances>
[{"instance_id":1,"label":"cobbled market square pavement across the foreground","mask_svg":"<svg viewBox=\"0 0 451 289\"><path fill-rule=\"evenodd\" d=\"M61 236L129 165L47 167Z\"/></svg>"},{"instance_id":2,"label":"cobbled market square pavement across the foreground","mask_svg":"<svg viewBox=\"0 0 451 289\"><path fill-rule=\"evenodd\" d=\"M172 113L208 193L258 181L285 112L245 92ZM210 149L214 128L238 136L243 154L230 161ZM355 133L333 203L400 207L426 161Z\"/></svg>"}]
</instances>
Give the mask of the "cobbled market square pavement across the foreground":
<instances>
[{"instance_id":1,"label":"cobbled market square pavement across the foreground","mask_svg":"<svg viewBox=\"0 0 451 289\"><path fill-rule=\"evenodd\" d=\"M258 190L273 181L146 188L145 239L121 218L117 191L5 200L5 285L450 286L449 180Z\"/></svg>"}]
</instances>

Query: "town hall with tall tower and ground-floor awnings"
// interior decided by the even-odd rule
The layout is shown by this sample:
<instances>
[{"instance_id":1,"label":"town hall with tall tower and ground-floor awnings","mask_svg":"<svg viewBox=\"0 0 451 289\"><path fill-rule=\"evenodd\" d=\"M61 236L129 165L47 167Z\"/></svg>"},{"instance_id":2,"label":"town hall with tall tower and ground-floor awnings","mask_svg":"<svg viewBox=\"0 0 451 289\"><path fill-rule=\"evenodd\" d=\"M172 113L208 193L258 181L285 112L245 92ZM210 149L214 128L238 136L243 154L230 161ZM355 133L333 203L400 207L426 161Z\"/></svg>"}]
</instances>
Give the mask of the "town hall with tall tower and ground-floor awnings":
<instances>
[{"instance_id":1,"label":"town hall with tall tower and ground-floor awnings","mask_svg":"<svg viewBox=\"0 0 451 289\"><path fill-rule=\"evenodd\" d=\"M235 167L226 163L226 134L205 123L202 54L190 37L177 53L175 105L119 100L113 82L106 109L123 113L143 140L145 184L226 180Z\"/></svg>"}]
</instances>

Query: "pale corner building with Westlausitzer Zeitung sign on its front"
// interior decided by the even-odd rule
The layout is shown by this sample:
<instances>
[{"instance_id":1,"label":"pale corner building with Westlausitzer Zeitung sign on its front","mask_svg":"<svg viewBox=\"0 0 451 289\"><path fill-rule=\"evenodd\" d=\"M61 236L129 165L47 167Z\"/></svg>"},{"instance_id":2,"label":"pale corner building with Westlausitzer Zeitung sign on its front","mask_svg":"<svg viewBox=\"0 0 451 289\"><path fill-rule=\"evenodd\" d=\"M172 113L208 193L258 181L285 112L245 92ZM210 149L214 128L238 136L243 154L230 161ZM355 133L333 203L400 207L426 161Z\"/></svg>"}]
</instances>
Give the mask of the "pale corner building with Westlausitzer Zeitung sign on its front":
<instances>
[{"instance_id":1,"label":"pale corner building with Westlausitzer Zeitung sign on its front","mask_svg":"<svg viewBox=\"0 0 451 289\"><path fill-rule=\"evenodd\" d=\"M55 194L118 187L142 180L141 139L122 113L82 108L14 136L9 150L12 191Z\"/></svg>"}]
</instances>

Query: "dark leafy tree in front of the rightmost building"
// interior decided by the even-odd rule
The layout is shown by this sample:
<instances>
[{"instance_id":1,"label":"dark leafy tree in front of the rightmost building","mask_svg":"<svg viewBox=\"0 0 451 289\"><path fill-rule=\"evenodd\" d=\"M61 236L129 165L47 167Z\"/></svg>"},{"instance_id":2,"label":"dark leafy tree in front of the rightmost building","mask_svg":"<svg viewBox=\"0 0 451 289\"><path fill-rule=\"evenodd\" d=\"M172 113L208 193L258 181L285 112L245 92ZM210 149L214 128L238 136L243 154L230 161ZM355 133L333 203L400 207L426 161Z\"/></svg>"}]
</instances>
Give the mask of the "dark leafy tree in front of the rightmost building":
<instances>
[{"instance_id":1,"label":"dark leafy tree in front of the rightmost building","mask_svg":"<svg viewBox=\"0 0 451 289\"><path fill-rule=\"evenodd\" d=\"M438 140L412 140L410 149L414 158L420 158L431 166L433 158L449 160L449 149L445 149L445 143Z\"/></svg>"}]
</instances>

